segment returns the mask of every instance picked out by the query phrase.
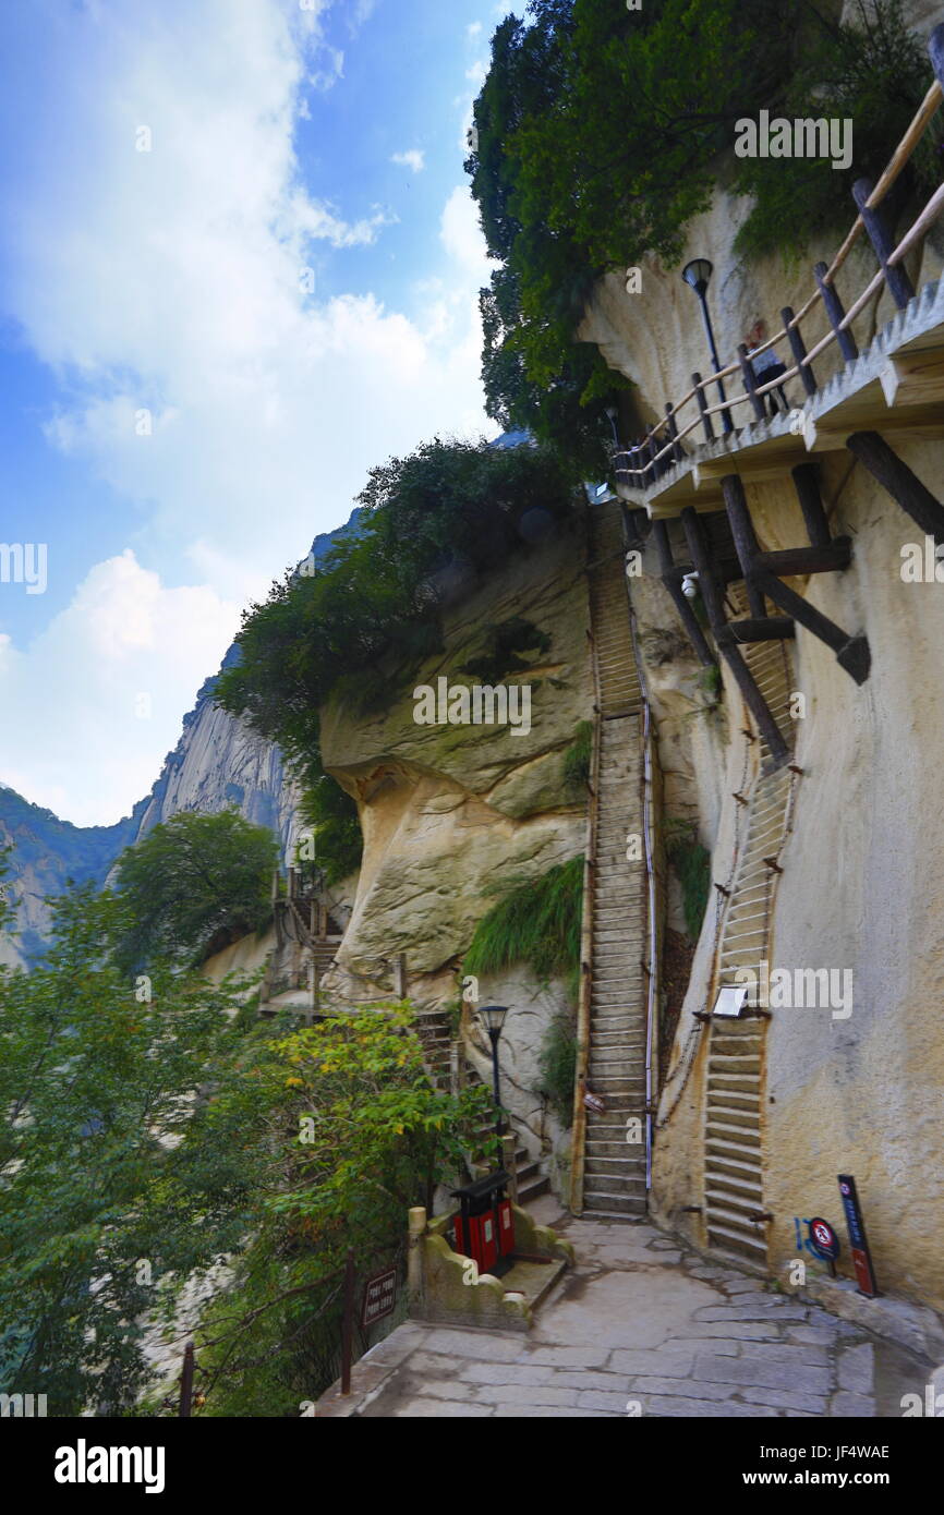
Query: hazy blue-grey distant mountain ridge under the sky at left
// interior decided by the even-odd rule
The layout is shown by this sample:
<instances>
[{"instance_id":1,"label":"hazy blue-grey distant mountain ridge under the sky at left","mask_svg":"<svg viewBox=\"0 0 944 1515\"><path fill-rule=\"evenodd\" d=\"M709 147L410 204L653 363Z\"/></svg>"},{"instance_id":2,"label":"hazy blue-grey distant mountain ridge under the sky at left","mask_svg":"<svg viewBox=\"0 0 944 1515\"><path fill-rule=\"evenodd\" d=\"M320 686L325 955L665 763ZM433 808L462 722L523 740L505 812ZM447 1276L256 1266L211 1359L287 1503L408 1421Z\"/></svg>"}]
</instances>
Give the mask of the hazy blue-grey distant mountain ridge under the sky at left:
<instances>
[{"instance_id":1,"label":"hazy blue-grey distant mountain ridge under the sky at left","mask_svg":"<svg viewBox=\"0 0 944 1515\"><path fill-rule=\"evenodd\" d=\"M364 511L344 526L315 536L308 559L324 558L333 542L356 533ZM221 670L239 658L233 644ZM220 670L220 671L221 671ZM50 929L47 897L67 880L103 883L118 854L179 811L223 811L235 804L256 826L268 826L283 851L292 844L299 795L282 753L244 721L214 704L220 674L205 679L182 721L180 739L164 759L150 794L112 826L73 826L0 780L0 845L8 857L6 894L15 904L14 932L0 933L0 964L41 962Z\"/></svg>"}]
</instances>

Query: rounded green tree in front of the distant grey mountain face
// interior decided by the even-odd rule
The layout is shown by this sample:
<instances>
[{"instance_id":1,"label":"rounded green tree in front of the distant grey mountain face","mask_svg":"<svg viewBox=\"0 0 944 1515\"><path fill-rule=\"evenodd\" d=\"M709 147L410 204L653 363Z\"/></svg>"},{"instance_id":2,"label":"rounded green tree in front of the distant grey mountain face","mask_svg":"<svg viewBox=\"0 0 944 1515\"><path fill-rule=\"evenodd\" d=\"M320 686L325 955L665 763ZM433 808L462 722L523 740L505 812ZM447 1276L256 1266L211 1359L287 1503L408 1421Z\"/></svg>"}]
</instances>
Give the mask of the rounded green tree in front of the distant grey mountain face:
<instances>
[{"instance_id":1,"label":"rounded green tree in front of the distant grey mountain face","mask_svg":"<svg viewBox=\"0 0 944 1515\"><path fill-rule=\"evenodd\" d=\"M121 962L152 953L198 961L208 950L261 930L271 915L279 848L270 830L235 811L180 811L118 859L129 933Z\"/></svg>"}]
</instances>

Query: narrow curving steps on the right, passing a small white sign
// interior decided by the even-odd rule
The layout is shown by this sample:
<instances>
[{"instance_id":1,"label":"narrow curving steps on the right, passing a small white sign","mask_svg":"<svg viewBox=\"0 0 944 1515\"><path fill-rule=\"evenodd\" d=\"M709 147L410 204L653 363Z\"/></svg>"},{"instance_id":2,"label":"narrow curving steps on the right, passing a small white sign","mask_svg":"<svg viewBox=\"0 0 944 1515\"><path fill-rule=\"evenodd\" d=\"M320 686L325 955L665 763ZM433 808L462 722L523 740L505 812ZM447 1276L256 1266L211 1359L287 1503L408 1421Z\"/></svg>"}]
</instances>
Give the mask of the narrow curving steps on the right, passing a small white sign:
<instances>
[{"instance_id":1,"label":"narrow curving steps on the right, passing a small white sign","mask_svg":"<svg viewBox=\"0 0 944 1515\"><path fill-rule=\"evenodd\" d=\"M729 597L742 597L736 586ZM738 604L738 614L747 614ZM750 642L744 654L783 736L792 742L788 714L792 688L789 645ZM718 948L718 982L733 983L738 968L759 971L770 959L770 921L777 873L767 857L780 853L788 821L792 774L788 768L765 773L770 751L759 744L758 776L747 811L744 848L724 917ZM708 1244L767 1264L764 1206L762 1110L765 1017L709 1021L705 1104L705 1224Z\"/></svg>"}]
</instances>

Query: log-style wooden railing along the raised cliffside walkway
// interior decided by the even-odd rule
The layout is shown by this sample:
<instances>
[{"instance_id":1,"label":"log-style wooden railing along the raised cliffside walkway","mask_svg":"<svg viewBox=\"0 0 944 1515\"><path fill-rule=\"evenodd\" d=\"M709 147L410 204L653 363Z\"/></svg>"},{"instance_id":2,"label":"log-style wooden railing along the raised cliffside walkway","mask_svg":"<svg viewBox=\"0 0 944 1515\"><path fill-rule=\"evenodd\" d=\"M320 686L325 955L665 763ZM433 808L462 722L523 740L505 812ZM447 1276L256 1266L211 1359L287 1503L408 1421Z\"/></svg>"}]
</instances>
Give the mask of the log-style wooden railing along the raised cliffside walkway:
<instances>
[{"instance_id":1,"label":"log-style wooden railing along the raised cliffside walkway","mask_svg":"<svg viewBox=\"0 0 944 1515\"><path fill-rule=\"evenodd\" d=\"M935 27L927 44L927 50L935 71L935 82L924 95L921 106L888 161L888 165L885 167L885 171L879 177L877 183L871 185L867 179L856 180L853 186L853 198L859 208L859 214L856 215L856 220L853 221L852 229L836 251L832 264L829 264L829 267L826 264L815 265L814 279L817 288L812 291L806 303L796 314L789 306L783 306L780 311L780 320L783 321L780 330L759 347L753 348L750 355L742 344L738 348L738 361L729 364L727 368L721 368L720 373L712 373L708 379L694 373L691 389L674 405L665 406L664 421L653 424L642 441L635 447L615 450L614 464L617 480L620 483L635 489L650 488L673 464L685 459L682 442L699 426L705 432L706 442L715 441L712 417L720 415L724 429L729 432L733 430L733 411L739 405L750 405L755 418L764 420L764 397L771 394L774 389L779 389L791 379L799 377L806 389L806 394L815 394L817 380L811 364L826 353L835 342L838 342L846 362L852 362L858 356L858 347L852 335L852 323L865 309L873 297L880 295L882 286L888 288L888 292L900 311L903 311L914 297L914 289L903 268L903 261L906 255L923 241L929 229L944 212L944 183L935 189L921 214L908 229L905 236L902 236L897 245L892 244L880 206L888 195L888 191L899 179L902 170L912 158L933 117L941 109L941 103L944 100L944 23ZM858 295L850 309L844 311L836 292L835 279L862 232L865 232L871 241L879 261L879 270L865 289L862 289ZM808 350L802 326L814 315L814 312L818 314L820 306L829 321L829 330ZM789 344L792 365L783 373L779 373L774 379L770 379L767 383L758 383L753 359L777 347L783 341ZM742 377L744 392L732 395L732 398L720 400L715 405L709 405L708 392L712 385L717 385L724 379L730 379L735 374ZM692 400L697 408L695 414L691 418L686 417L685 424L680 427L680 415L692 403Z\"/></svg>"}]
</instances>

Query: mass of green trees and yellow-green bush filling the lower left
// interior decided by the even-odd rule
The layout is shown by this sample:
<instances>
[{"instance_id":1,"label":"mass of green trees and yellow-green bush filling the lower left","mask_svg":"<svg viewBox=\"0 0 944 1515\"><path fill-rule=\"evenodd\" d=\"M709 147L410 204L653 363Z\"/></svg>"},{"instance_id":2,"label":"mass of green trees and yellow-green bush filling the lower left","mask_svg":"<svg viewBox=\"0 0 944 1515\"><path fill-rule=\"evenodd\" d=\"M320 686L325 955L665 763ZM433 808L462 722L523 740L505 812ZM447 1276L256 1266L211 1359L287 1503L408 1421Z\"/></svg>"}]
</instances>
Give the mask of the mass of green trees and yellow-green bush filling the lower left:
<instances>
[{"instance_id":1,"label":"mass of green trees and yellow-green bush filling the lower left","mask_svg":"<svg viewBox=\"0 0 944 1515\"><path fill-rule=\"evenodd\" d=\"M226 1257L203 1413L297 1415L335 1374L347 1247L397 1253L489 1094L430 1088L409 1006L273 1027L158 959L145 992L115 964L129 926L126 895L83 886L48 965L0 973L0 1389L136 1413L144 1323Z\"/></svg>"}]
</instances>

